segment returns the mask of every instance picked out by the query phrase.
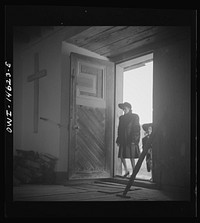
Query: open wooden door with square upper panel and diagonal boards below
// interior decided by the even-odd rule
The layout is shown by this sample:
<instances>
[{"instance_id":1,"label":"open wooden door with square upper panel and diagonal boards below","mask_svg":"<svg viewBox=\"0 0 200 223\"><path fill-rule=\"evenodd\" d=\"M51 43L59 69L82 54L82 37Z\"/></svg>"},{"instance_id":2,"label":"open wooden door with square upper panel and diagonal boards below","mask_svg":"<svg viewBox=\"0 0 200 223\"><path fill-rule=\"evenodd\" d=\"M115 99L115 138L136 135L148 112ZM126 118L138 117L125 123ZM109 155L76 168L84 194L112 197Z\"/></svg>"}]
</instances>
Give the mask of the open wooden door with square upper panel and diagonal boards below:
<instances>
[{"instance_id":1,"label":"open wooden door with square upper panel and diagonal boards below","mask_svg":"<svg viewBox=\"0 0 200 223\"><path fill-rule=\"evenodd\" d=\"M71 53L69 179L113 173L114 64Z\"/></svg>"}]
</instances>

